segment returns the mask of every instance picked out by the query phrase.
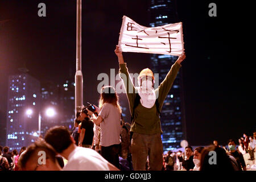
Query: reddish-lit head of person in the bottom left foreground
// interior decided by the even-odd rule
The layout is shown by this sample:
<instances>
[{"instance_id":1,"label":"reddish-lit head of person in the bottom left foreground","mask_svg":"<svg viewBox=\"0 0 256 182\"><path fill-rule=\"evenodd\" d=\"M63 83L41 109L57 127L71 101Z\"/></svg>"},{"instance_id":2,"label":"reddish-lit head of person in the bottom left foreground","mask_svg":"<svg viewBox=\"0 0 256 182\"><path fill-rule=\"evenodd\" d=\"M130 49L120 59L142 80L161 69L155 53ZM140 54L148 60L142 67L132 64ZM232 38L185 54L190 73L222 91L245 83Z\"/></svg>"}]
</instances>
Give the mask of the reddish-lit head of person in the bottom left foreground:
<instances>
[{"instance_id":1,"label":"reddish-lit head of person in the bottom left foreground","mask_svg":"<svg viewBox=\"0 0 256 182\"><path fill-rule=\"evenodd\" d=\"M55 150L43 139L28 146L18 161L19 171L60 171Z\"/></svg>"}]
</instances>

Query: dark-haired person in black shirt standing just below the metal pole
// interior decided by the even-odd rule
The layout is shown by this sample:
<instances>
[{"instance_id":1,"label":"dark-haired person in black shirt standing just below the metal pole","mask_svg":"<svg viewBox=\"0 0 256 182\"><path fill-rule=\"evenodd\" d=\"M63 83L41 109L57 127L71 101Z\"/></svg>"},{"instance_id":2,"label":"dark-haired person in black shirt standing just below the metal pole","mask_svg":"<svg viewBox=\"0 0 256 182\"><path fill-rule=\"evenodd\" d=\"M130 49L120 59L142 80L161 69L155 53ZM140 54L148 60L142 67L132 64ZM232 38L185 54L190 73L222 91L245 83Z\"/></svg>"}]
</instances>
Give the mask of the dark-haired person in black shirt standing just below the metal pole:
<instances>
[{"instance_id":1,"label":"dark-haired person in black shirt standing just below the metal pole","mask_svg":"<svg viewBox=\"0 0 256 182\"><path fill-rule=\"evenodd\" d=\"M80 113L81 121L81 134L80 134L80 147L91 148L93 143L93 121L90 119L87 107L83 107Z\"/></svg>"}]
</instances>

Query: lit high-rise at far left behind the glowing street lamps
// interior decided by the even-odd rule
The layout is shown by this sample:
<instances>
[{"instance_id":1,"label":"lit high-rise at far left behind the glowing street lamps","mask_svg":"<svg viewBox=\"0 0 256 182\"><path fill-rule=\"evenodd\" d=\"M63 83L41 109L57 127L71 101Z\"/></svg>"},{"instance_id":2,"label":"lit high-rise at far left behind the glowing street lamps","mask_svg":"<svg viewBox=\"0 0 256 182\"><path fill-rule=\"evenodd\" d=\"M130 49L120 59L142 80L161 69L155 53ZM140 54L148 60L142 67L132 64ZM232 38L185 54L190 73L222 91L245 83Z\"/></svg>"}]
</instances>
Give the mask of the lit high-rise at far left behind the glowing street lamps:
<instances>
[{"instance_id":1,"label":"lit high-rise at far left behind the glowing street lamps","mask_svg":"<svg viewBox=\"0 0 256 182\"><path fill-rule=\"evenodd\" d=\"M20 150L38 138L39 111L40 82L27 73L10 76L6 117L6 146L10 150Z\"/></svg>"}]
</instances>

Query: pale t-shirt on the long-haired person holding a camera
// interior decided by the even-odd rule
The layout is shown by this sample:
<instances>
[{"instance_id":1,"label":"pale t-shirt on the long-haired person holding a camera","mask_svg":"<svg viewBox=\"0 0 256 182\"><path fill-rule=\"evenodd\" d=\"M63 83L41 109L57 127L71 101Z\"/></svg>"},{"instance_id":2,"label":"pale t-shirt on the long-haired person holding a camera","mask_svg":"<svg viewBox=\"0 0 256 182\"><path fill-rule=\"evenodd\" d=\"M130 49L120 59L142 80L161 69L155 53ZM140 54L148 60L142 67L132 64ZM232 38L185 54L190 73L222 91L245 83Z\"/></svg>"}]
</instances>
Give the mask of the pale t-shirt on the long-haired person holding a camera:
<instances>
[{"instance_id":1,"label":"pale t-shirt on the long-haired person holding a camera","mask_svg":"<svg viewBox=\"0 0 256 182\"><path fill-rule=\"evenodd\" d=\"M105 103L99 114L101 122L101 146L108 147L121 143L121 114L118 107Z\"/></svg>"}]
</instances>

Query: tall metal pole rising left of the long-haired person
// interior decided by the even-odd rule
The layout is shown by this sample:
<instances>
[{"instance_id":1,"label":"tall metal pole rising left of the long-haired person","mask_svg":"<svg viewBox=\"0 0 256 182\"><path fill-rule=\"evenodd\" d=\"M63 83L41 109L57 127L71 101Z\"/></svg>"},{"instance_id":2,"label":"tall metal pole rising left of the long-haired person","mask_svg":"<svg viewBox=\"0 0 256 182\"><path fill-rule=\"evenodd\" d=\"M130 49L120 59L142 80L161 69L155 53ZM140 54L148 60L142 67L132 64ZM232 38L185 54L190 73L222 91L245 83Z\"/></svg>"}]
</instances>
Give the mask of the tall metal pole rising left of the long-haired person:
<instances>
[{"instance_id":1,"label":"tall metal pole rising left of the long-haired person","mask_svg":"<svg viewBox=\"0 0 256 182\"><path fill-rule=\"evenodd\" d=\"M81 55L81 29L82 29L82 1L76 2L76 75L75 75L75 112L82 108L82 55Z\"/></svg>"}]
</instances>

